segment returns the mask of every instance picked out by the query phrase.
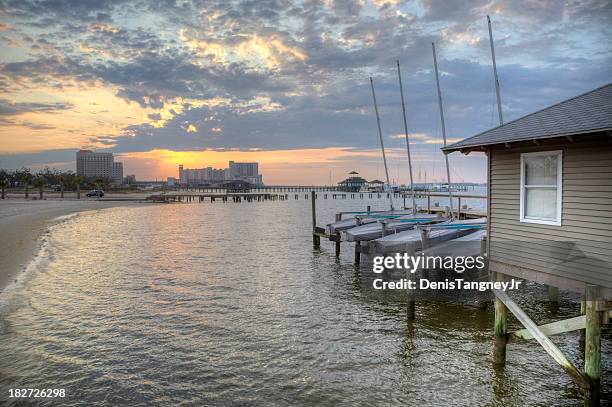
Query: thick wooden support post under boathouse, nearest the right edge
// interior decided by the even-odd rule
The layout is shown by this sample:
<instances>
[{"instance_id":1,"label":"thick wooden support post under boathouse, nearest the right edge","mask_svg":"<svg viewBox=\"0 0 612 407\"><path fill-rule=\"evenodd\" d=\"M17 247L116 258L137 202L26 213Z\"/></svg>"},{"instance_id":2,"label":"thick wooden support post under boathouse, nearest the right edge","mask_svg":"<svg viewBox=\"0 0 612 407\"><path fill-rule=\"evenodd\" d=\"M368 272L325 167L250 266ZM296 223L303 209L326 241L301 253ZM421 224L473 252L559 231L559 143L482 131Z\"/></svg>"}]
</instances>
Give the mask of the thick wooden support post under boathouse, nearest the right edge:
<instances>
[{"instance_id":1,"label":"thick wooden support post under boathouse, nearest the right edge","mask_svg":"<svg viewBox=\"0 0 612 407\"><path fill-rule=\"evenodd\" d=\"M584 373L587 380L584 405L599 406L601 395L601 312L597 310L599 289L586 286L586 344Z\"/></svg>"}]
</instances>

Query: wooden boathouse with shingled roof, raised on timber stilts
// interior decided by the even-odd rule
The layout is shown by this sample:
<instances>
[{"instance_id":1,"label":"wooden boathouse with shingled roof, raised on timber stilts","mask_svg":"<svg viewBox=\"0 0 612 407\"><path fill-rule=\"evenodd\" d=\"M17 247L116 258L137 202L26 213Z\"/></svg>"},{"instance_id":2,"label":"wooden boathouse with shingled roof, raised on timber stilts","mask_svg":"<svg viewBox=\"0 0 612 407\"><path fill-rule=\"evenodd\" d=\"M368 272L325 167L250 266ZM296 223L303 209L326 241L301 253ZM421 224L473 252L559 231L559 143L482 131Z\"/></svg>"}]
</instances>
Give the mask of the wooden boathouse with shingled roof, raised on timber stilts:
<instances>
[{"instance_id":1,"label":"wooden boathouse with shingled roof, raised on timber stilts","mask_svg":"<svg viewBox=\"0 0 612 407\"><path fill-rule=\"evenodd\" d=\"M490 271L499 278L520 277L553 290L577 291L588 300L587 315L573 328L586 328L584 373L559 356L558 349L551 353L549 345L554 343L546 336L547 329L539 329L526 315L517 315L522 310L506 293L497 292L496 361L505 360L509 308L526 328L533 324L539 329L543 337L533 337L583 384L586 400L597 404L598 327L608 321L605 300L612 298L612 84L443 151L481 151L488 157ZM589 327L591 323L597 326Z\"/></svg>"}]
</instances>

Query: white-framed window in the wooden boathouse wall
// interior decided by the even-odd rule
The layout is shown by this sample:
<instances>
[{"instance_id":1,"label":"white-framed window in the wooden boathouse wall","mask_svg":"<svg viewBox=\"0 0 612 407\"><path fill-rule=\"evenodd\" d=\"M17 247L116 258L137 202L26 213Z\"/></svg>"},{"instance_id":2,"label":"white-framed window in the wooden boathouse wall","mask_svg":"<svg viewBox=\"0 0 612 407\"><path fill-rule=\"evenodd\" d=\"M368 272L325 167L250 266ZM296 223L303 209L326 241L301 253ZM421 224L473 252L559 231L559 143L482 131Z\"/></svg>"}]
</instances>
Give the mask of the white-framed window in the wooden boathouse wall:
<instances>
[{"instance_id":1,"label":"white-framed window in the wooden boathouse wall","mask_svg":"<svg viewBox=\"0 0 612 407\"><path fill-rule=\"evenodd\" d=\"M521 154L521 222L561 226L561 151Z\"/></svg>"}]
</instances>

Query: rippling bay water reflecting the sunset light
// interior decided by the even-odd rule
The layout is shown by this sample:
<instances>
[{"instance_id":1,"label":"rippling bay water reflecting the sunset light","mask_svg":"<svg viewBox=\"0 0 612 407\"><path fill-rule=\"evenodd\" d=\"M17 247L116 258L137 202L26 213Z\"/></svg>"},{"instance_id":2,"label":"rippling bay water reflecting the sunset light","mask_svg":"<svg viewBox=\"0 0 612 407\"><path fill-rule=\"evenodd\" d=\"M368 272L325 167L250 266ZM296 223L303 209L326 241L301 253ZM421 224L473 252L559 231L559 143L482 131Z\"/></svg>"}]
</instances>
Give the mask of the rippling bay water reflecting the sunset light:
<instances>
[{"instance_id":1,"label":"rippling bay water reflecting the sunset light","mask_svg":"<svg viewBox=\"0 0 612 407\"><path fill-rule=\"evenodd\" d=\"M317 204L323 224L368 202ZM313 251L310 228L304 200L66 219L0 305L0 404L18 405L15 387L64 388L37 405L67 406L581 403L535 343L510 344L492 368L491 309L419 304L407 323L402 303L364 285L349 245L340 260L328 242ZM564 296L557 314L522 303L538 322L578 312ZM583 364L577 335L555 341ZM609 332L603 351L612 401Z\"/></svg>"}]
</instances>

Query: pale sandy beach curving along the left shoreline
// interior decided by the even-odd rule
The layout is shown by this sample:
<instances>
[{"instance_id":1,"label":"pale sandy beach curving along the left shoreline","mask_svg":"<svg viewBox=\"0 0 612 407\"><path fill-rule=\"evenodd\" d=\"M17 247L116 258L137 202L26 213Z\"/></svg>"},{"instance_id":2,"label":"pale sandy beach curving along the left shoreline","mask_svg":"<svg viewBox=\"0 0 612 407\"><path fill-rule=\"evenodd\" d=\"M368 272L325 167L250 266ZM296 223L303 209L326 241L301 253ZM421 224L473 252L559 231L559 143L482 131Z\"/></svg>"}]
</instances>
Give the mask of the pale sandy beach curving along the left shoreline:
<instances>
[{"instance_id":1,"label":"pale sandy beach curving along the left shoreline","mask_svg":"<svg viewBox=\"0 0 612 407\"><path fill-rule=\"evenodd\" d=\"M96 200L0 200L0 291L15 280L36 253L42 234L54 219L72 213L141 205Z\"/></svg>"}]
</instances>

